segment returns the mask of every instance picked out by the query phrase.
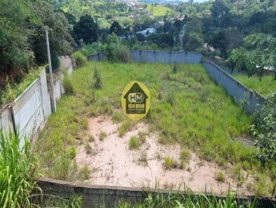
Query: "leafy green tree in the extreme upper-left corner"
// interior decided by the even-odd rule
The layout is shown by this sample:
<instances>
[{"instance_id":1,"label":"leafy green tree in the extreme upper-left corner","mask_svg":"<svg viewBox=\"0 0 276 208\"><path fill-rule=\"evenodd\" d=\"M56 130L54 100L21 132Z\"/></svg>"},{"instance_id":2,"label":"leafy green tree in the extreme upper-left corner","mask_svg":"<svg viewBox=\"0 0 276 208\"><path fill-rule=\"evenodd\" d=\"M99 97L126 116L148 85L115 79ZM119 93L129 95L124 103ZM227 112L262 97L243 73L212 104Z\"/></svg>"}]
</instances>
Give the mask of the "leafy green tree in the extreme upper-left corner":
<instances>
[{"instance_id":1,"label":"leafy green tree in the extreme upper-left corner","mask_svg":"<svg viewBox=\"0 0 276 208\"><path fill-rule=\"evenodd\" d=\"M10 74L21 68L28 70L34 53L28 38L32 30L27 20L34 21L28 3L23 1L0 1L0 73Z\"/></svg>"}]
</instances>

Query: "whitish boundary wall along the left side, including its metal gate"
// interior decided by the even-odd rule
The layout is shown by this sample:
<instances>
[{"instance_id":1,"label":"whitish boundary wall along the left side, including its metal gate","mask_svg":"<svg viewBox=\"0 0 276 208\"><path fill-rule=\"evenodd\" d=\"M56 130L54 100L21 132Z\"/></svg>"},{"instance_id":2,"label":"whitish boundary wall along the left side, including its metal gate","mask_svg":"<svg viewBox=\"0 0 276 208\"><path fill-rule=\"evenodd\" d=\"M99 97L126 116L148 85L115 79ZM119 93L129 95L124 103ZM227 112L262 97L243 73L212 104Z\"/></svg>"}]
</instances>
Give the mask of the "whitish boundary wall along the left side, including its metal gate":
<instances>
[{"instance_id":1,"label":"whitish boundary wall along the left side, including its metal gate","mask_svg":"<svg viewBox=\"0 0 276 208\"><path fill-rule=\"evenodd\" d=\"M68 74L72 73L73 63L68 56L61 61ZM63 74L59 73L54 83L55 105L64 93ZM39 135L45 126L48 116L52 113L50 102L50 86L46 79L46 70L41 70L39 77L30 84L13 102L0 108L0 129L4 133L19 129L19 136L30 139ZM21 145L23 145L23 140Z\"/></svg>"}]
</instances>

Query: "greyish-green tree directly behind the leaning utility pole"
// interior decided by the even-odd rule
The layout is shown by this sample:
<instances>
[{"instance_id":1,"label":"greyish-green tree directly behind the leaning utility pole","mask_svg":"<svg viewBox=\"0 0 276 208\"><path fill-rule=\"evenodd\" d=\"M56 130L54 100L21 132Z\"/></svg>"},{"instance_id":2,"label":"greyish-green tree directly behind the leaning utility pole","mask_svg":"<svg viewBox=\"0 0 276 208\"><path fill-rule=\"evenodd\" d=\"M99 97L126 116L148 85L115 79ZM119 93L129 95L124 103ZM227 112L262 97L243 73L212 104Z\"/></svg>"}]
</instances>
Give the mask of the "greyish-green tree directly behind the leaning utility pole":
<instances>
[{"instance_id":1,"label":"greyish-green tree directly behind the leaning utility pole","mask_svg":"<svg viewBox=\"0 0 276 208\"><path fill-rule=\"evenodd\" d=\"M68 21L62 12L55 12L46 1L34 1L30 9L38 19L31 26L34 32L30 36L35 60L39 65L48 61L45 39L45 28L48 27L52 66L55 69L59 66L59 55L72 54L72 37Z\"/></svg>"}]
</instances>

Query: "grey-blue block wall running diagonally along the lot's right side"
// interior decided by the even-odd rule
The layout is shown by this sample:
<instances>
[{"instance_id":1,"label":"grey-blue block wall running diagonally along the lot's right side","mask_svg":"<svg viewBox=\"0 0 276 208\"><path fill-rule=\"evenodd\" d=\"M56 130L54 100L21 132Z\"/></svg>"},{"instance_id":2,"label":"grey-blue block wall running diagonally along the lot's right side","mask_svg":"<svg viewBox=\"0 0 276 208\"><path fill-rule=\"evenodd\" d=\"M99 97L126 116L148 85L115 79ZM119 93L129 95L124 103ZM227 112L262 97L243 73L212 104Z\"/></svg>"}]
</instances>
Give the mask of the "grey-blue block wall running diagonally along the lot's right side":
<instances>
[{"instance_id":1,"label":"grey-blue block wall running diagonally along the lot's right side","mask_svg":"<svg viewBox=\"0 0 276 208\"><path fill-rule=\"evenodd\" d=\"M266 98L258 92L252 91L230 76L226 71L211 61L202 61L210 77L221 87L224 87L227 94L232 96L235 103L243 107L246 112L253 114L262 110Z\"/></svg>"}]
</instances>

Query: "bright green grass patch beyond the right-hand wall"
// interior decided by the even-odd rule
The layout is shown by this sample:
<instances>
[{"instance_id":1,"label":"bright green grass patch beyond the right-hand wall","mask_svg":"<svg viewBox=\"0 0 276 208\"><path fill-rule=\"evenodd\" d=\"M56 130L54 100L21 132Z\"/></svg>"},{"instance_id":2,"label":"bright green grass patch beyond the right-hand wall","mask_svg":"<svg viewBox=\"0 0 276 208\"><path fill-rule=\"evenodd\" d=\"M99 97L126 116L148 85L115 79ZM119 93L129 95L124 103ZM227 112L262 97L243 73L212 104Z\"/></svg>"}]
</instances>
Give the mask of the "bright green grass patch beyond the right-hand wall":
<instances>
[{"instance_id":1,"label":"bright green grass patch beyond the right-hand wall","mask_svg":"<svg viewBox=\"0 0 276 208\"><path fill-rule=\"evenodd\" d=\"M246 85L246 87L259 92L265 97L276 92L276 82L272 81L272 76L263 76L262 79L257 76L248 77L245 74L233 74L232 76Z\"/></svg>"}]
</instances>

